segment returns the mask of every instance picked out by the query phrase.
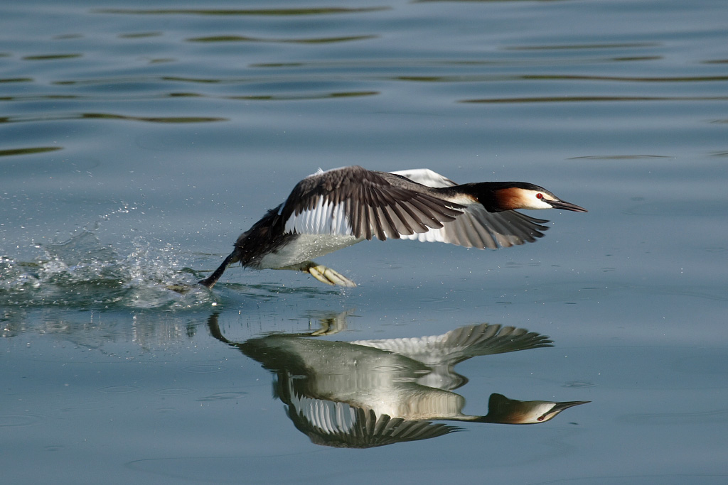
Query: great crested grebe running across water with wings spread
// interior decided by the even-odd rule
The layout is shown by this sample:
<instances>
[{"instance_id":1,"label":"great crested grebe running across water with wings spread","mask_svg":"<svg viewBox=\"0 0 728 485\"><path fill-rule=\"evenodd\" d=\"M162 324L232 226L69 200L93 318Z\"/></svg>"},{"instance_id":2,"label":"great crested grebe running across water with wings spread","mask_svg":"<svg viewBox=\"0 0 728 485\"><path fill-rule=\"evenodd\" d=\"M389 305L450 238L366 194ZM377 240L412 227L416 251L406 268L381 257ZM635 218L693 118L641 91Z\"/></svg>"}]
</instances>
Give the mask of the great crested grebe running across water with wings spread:
<instances>
[{"instance_id":1,"label":"great crested grebe running across water with wings spread","mask_svg":"<svg viewBox=\"0 0 728 485\"><path fill-rule=\"evenodd\" d=\"M229 265L240 262L256 270L298 270L325 284L352 287L354 281L313 258L375 238L497 249L544 235L547 220L515 209L587 212L525 182L459 185L430 169L319 169L242 233L233 252L199 284L212 288Z\"/></svg>"}]
</instances>

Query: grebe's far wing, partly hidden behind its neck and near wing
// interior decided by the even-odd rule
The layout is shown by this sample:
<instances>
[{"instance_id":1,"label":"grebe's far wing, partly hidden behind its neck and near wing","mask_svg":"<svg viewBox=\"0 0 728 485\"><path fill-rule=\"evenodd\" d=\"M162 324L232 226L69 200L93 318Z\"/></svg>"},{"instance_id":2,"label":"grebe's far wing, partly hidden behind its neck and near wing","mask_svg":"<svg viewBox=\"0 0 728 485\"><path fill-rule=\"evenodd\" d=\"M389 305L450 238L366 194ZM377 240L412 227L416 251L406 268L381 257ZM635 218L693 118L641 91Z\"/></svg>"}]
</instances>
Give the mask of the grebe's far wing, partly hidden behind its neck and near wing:
<instances>
[{"instance_id":1,"label":"grebe's far wing, partly hidden behind its neck and near wing","mask_svg":"<svg viewBox=\"0 0 728 485\"><path fill-rule=\"evenodd\" d=\"M457 185L430 169L411 169L392 173L428 187ZM432 228L424 233L414 233L402 237L403 239L437 241L478 249L486 247L497 249L498 247L534 242L537 238L544 236L542 231L548 229L542 225L547 223L547 220L530 217L513 210L488 212L480 204L467 205L462 210L461 215L458 215L455 220L444 223L442 228Z\"/></svg>"}]
</instances>

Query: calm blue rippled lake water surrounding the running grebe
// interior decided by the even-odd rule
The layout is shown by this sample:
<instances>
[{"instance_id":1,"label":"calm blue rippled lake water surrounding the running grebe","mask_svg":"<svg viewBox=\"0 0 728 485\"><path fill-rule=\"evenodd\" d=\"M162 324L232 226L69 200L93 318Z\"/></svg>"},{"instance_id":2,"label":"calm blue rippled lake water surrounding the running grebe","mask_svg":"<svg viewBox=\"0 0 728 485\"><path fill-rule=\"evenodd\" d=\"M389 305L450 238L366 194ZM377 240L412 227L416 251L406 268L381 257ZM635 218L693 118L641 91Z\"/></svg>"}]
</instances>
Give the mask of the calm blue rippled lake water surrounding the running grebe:
<instances>
[{"instance_id":1,"label":"calm blue rippled lake water surrounding the running grebe","mask_svg":"<svg viewBox=\"0 0 728 485\"><path fill-rule=\"evenodd\" d=\"M0 6L4 481L726 481L724 1L73 3ZM240 268L167 289L349 164L590 212L539 212L544 239L497 252L321 258L355 289ZM482 323L552 346L346 343ZM434 395L483 416L492 394L591 402L405 413L386 439L301 418Z\"/></svg>"}]
</instances>

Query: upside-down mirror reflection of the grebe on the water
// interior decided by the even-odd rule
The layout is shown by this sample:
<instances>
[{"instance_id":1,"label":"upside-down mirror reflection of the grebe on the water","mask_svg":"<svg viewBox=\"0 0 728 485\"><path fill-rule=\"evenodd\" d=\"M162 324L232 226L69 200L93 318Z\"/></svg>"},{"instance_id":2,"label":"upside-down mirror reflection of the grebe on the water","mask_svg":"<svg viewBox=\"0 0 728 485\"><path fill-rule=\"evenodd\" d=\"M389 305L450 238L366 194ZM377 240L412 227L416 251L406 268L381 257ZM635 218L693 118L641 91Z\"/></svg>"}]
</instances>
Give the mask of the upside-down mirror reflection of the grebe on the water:
<instances>
[{"instance_id":1,"label":"upside-down mirror reflection of the grebe on the water","mask_svg":"<svg viewBox=\"0 0 728 485\"><path fill-rule=\"evenodd\" d=\"M475 356L551 347L545 335L512 326L462 326L430 337L334 342L312 338L345 326L347 313L322 318L325 330L227 340L217 316L213 337L273 372L274 393L288 417L312 442L368 448L435 438L459 430L435 421L534 424L589 401L516 401L491 394L488 414L463 414L465 399L452 390L467 382L454 372Z\"/></svg>"}]
</instances>

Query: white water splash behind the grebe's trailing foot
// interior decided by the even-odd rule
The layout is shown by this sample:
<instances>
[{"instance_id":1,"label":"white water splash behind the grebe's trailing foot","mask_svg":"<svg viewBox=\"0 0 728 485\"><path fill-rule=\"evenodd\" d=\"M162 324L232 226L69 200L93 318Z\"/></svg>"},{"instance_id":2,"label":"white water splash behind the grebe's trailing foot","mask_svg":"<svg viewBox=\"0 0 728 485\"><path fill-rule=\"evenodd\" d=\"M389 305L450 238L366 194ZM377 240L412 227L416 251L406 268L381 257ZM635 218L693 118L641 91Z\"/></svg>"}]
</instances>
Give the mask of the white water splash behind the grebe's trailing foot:
<instances>
[{"instance_id":1,"label":"white water splash behind the grebe's trailing foot","mask_svg":"<svg viewBox=\"0 0 728 485\"><path fill-rule=\"evenodd\" d=\"M32 262L0 257L0 305L12 307L194 308L213 296L194 284L171 244L153 247L138 237L129 254L84 229L67 241L37 246ZM183 269L178 269L183 268Z\"/></svg>"}]
</instances>

